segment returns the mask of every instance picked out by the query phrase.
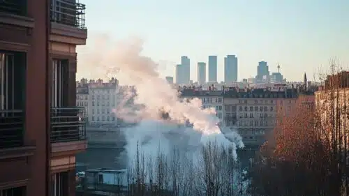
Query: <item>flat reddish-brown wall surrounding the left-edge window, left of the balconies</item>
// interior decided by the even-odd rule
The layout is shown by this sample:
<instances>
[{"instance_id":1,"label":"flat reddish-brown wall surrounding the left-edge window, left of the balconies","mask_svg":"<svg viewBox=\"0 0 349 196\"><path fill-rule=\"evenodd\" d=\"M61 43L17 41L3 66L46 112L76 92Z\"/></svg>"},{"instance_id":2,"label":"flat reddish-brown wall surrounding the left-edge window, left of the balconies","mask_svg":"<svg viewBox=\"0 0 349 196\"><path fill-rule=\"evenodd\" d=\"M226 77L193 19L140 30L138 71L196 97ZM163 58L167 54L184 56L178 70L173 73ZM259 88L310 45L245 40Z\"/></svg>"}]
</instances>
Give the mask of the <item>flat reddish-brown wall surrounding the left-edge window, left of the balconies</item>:
<instances>
[{"instance_id":1,"label":"flat reddish-brown wall surrounding the left-edge window, left of the balconies","mask_svg":"<svg viewBox=\"0 0 349 196\"><path fill-rule=\"evenodd\" d=\"M6 13L1 13L0 16L1 52L22 52L24 59L20 65L26 66L23 78L25 87L22 89L25 103L23 108L19 108L25 111L24 146L21 149L1 151L0 190L27 186L27 195L46 195L48 7L45 0L35 3L28 1L27 5L27 15L20 20ZM7 20L3 20L3 17Z\"/></svg>"}]
</instances>

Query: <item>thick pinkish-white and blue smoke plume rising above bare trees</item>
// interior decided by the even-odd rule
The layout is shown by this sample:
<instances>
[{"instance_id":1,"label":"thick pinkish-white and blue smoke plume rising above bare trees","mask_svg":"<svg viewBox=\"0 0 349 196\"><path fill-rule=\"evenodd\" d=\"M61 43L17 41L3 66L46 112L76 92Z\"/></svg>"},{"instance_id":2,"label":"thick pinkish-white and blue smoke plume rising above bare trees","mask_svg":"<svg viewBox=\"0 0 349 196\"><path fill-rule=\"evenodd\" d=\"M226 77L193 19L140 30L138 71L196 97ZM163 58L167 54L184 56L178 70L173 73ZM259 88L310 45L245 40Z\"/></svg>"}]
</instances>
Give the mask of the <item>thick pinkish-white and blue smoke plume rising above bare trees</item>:
<instances>
[{"instance_id":1,"label":"thick pinkish-white and blue smoke plume rising above bare trees","mask_svg":"<svg viewBox=\"0 0 349 196\"><path fill-rule=\"evenodd\" d=\"M223 135L214 109L203 110L200 99L181 100L177 90L159 77L158 64L142 56L142 40L131 39L104 48L107 50L96 54L101 58L96 68L103 69L107 77L117 77L120 84L135 86L135 91L124 93L115 110L118 118L138 122L124 130L130 160L138 144L145 153L156 154L160 149L170 154L176 148L195 154L208 140L231 147L236 158L235 150L244 146L242 138L225 128ZM185 126L188 123L192 126Z\"/></svg>"}]
</instances>

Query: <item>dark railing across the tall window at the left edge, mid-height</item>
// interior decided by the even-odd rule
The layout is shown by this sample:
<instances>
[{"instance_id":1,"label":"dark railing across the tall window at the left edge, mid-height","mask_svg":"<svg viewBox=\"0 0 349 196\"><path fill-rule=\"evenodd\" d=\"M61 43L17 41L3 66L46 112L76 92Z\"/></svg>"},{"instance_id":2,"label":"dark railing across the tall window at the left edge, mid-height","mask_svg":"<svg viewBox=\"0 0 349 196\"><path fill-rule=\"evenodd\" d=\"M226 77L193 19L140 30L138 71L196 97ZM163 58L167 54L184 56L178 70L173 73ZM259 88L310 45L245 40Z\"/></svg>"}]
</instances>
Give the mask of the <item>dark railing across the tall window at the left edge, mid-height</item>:
<instances>
[{"instance_id":1,"label":"dark railing across the tall window at the left edge, mid-height","mask_svg":"<svg viewBox=\"0 0 349 196\"><path fill-rule=\"evenodd\" d=\"M0 110L0 149L22 146L23 137L23 111Z\"/></svg>"}]
</instances>

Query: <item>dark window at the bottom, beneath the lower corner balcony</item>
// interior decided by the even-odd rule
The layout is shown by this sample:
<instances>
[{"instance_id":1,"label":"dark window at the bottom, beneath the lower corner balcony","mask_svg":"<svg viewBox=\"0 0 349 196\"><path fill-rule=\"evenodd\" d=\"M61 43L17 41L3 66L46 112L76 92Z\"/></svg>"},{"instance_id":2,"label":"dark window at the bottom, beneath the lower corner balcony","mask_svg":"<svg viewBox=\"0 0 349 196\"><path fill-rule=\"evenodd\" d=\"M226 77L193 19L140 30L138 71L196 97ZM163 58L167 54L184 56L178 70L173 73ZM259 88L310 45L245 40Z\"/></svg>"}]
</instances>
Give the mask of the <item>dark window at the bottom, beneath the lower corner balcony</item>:
<instances>
[{"instance_id":1,"label":"dark window at the bottom, beneath the lower corner balcony","mask_svg":"<svg viewBox=\"0 0 349 196\"><path fill-rule=\"evenodd\" d=\"M52 196L68 195L68 172L53 174L51 177Z\"/></svg>"}]
</instances>

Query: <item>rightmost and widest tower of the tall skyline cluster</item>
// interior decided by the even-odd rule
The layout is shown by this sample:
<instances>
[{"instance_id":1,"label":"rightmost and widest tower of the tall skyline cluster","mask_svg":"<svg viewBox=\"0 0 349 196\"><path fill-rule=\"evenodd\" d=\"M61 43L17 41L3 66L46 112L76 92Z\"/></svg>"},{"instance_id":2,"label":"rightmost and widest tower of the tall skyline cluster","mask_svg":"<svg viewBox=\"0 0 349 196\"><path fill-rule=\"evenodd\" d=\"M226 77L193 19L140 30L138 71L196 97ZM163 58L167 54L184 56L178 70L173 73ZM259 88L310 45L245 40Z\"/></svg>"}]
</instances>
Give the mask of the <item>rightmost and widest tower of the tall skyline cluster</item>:
<instances>
[{"instance_id":1,"label":"rightmost and widest tower of the tall skyline cluster","mask_svg":"<svg viewBox=\"0 0 349 196\"><path fill-rule=\"evenodd\" d=\"M237 82L237 57L227 55L224 58L224 82L230 84Z\"/></svg>"}]
</instances>

